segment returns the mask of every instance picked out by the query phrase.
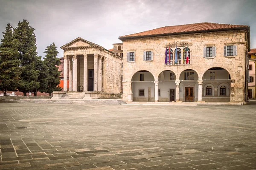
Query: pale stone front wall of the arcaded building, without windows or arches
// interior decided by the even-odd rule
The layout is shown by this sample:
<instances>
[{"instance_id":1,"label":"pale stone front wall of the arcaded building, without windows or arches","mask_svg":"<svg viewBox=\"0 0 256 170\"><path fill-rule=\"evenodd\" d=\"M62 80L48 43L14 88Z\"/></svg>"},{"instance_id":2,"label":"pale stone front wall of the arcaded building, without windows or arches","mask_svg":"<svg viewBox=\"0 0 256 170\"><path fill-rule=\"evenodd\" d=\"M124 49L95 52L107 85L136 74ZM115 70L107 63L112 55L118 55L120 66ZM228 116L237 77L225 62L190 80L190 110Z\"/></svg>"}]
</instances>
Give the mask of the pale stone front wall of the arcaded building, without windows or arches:
<instances>
[{"instance_id":1,"label":"pale stone front wall of the arcaded building, without windows or arches","mask_svg":"<svg viewBox=\"0 0 256 170\"><path fill-rule=\"evenodd\" d=\"M129 83L137 71L149 71L154 76L154 80L157 81L162 71L173 71L178 80L182 71L192 69L198 74L198 78L202 79L209 68L221 67L228 71L232 82L234 82L231 85L233 100L244 101L244 88L246 85L244 77L245 56L247 51L245 32L246 30L216 31L123 40L123 99L127 101ZM172 43L177 43L177 48L181 50L183 50L183 45L181 44L188 43L188 48L191 51L191 63L189 65L164 64L165 49ZM237 45L237 56L224 57L224 45ZM203 48L206 46L216 47L216 57L203 57ZM171 48L174 52L175 46L171 46ZM148 49L153 51L153 60L143 61L143 51ZM128 51L135 51L134 62L126 61Z\"/></svg>"}]
</instances>

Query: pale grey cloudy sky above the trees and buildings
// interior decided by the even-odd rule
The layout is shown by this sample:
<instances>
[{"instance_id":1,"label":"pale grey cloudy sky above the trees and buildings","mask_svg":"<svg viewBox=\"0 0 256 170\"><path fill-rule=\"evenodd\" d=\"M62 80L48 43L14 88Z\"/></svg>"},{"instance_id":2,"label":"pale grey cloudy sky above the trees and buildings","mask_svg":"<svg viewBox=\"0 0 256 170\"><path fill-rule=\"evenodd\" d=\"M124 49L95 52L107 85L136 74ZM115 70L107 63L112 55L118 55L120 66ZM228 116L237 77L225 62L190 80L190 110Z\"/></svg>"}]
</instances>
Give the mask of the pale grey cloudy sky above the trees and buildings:
<instances>
[{"instance_id":1,"label":"pale grey cloudy sky above the trees and buildings","mask_svg":"<svg viewBox=\"0 0 256 170\"><path fill-rule=\"evenodd\" d=\"M256 48L256 0L0 0L0 32L24 18L35 28L38 54L82 37L106 49L118 37L163 26L227 23L250 26ZM0 33L2 39L2 33Z\"/></svg>"}]
</instances>

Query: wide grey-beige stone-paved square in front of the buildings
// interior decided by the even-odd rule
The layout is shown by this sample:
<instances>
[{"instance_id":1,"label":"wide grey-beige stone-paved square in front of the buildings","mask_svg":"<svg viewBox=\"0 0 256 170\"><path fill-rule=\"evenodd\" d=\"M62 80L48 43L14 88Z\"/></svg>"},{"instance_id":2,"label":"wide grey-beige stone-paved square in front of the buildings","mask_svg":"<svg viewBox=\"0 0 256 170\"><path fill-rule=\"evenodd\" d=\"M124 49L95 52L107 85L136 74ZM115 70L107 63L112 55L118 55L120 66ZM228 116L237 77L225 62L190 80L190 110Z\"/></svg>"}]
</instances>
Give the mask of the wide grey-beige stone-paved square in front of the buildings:
<instances>
[{"instance_id":1,"label":"wide grey-beige stone-paved square in front of the buildings","mask_svg":"<svg viewBox=\"0 0 256 170\"><path fill-rule=\"evenodd\" d=\"M0 169L253 170L256 105L0 103Z\"/></svg>"}]
</instances>

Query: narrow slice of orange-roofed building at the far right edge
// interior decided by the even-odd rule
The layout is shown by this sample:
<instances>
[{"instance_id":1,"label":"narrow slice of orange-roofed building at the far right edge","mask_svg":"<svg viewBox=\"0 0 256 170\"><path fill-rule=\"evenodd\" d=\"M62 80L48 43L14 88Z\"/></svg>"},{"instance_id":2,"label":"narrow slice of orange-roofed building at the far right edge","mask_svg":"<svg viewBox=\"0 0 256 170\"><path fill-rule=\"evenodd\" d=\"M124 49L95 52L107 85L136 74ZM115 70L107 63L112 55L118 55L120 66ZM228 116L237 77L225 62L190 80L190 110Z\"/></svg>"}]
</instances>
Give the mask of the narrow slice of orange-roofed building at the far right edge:
<instances>
[{"instance_id":1,"label":"narrow slice of orange-roofed building at the far right edge","mask_svg":"<svg viewBox=\"0 0 256 170\"><path fill-rule=\"evenodd\" d=\"M249 51L249 78L248 78L248 98L255 99L256 96L256 48Z\"/></svg>"}]
</instances>

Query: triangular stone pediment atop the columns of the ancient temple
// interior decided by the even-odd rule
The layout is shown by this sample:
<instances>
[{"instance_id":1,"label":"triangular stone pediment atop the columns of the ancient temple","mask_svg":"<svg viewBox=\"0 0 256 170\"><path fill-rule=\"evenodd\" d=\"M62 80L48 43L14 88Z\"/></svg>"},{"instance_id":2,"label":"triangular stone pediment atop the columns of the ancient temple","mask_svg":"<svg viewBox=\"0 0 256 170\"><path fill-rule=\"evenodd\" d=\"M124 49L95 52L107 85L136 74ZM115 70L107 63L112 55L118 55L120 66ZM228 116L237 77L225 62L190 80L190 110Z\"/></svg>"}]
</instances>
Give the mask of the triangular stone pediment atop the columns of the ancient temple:
<instances>
[{"instance_id":1,"label":"triangular stone pediment atop the columns of the ancient temple","mask_svg":"<svg viewBox=\"0 0 256 170\"><path fill-rule=\"evenodd\" d=\"M89 47L89 46L97 46L100 47L97 44L94 44L93 42L87 41L82 39L81 37L76 38L75 40L61 46L61 49L65 49L65 48L76 48L76 47Z\"/></svg>"}]
</instances>

